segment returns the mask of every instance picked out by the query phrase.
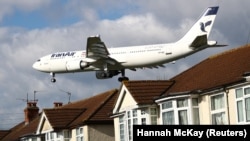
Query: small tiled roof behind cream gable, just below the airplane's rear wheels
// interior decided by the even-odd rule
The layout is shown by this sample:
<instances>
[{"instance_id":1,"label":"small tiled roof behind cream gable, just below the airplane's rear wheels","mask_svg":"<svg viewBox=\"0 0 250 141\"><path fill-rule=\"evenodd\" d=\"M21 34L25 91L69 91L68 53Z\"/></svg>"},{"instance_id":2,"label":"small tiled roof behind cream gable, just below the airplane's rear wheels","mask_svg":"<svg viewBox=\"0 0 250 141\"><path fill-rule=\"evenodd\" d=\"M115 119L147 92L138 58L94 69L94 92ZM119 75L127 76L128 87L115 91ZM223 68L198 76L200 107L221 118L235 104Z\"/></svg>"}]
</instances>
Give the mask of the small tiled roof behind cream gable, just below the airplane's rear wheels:
<instances>
[{"instance_id":1,"label":"small tiled roof behind cream gable, just below the airplane's rear wheels","mask_svg":"<svg viewBox=\"0 0 250 141\"><path fill-rule=\"evenodd\" d=\"M123 84L127 87L138 104L152 104L154 103L154 98L166 92L174 84L174 81L123 81Z\"/></svg>"}]
</instances>

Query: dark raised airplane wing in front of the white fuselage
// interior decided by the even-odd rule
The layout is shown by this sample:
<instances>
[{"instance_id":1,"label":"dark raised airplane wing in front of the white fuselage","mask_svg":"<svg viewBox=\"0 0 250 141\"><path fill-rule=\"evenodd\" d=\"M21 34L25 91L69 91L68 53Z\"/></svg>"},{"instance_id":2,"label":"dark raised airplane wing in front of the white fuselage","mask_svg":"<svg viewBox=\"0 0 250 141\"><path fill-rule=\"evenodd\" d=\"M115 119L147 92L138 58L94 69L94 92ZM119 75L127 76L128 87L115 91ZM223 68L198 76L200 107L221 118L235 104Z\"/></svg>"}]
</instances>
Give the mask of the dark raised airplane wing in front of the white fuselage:
<instances>
[{"instance_id":1,"label":"dark raised airplane wing in front of the white fuselage","mask_svg":"<svg viewBox=\"0 0 250 141\"><path fill-rule=\"evenodd\" d=\"M109 52L104 44L104 42L101 41L100 36L91 36L87 39L87 49L86 49L86 58L95 60L94 62L100 62L104 61L108 64L115 65L118 63L113 58L109 57ZM92 63L94 63L92 62Z\"/></svg>"}]
</instances>

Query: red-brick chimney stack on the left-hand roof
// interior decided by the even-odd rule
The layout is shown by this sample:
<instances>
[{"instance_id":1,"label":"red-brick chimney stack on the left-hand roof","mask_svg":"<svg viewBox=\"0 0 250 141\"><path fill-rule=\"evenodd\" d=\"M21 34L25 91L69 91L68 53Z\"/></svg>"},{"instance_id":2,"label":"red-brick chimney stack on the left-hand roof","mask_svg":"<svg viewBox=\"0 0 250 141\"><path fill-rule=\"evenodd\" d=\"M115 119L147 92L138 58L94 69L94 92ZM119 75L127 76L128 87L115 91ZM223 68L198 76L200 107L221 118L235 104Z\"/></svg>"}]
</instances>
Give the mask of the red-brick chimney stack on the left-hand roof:
<instances>
[{"instance_id":1,"label":"red-brick chimney stack on the left-hand roof","mask_svg":"<svg viewBox=\"0 0 250 141\"><path fill-rule=\"evenodd\" d=\"M39 108L36 107L36 102L27 102L27 107L24 109L25 124L29 124L39 114Z\"/></svg>"}]
</instances>

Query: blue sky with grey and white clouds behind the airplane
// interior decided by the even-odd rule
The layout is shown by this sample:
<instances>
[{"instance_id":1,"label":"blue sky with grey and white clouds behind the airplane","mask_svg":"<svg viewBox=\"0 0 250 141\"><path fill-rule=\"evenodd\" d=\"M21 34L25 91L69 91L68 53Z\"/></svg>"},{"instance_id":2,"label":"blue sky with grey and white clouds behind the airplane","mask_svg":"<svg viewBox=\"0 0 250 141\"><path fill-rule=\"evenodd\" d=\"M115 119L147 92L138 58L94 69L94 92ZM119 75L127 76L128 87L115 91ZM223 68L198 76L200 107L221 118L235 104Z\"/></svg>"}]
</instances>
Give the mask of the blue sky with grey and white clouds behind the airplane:
<instances>
[{"instance_id":1,"label":"blue sky with grey and white clouds behind the airplane","mask_svg":"<svg viewBox=\"0 0 250 141\"><path fill-rule=\"evenodd\" d=\"M249 0L0 0L0 129L24 120L27 98L38 100L41 112L54 102L67 104L121 86L119 76L99 80L95 72L56 74L51 83L49 74L32 68L41 56L83 50L87 37L98 34L107 47L175 42L207 7L220 6L209 39L228 46L161 69L126 70L130 80L168 80L209 56L249 43L249 5Z\"/></svg>"}]
</instances>

